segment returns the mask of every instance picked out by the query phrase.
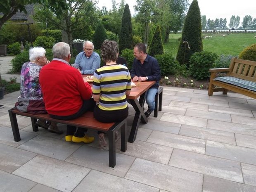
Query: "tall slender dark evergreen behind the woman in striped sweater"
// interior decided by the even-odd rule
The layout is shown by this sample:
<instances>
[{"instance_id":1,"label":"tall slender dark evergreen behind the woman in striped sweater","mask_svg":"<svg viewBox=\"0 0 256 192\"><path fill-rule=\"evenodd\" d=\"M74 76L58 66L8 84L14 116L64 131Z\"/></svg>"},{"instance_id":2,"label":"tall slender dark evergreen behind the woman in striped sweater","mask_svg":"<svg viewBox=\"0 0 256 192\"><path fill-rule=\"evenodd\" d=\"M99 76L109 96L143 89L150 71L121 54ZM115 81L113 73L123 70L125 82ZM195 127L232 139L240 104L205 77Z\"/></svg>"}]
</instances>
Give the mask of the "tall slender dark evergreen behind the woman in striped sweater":
<instances>
[{"instance_id":1,"label":"tall slender dark evergreen behind the woman in striped sweater","mask_svg":"<svg viewBox=\"0 0 256 192\"><path fill-rule=\"evenodd\" d=\"M129 5L126 4L123 10L121 33L119 38L119 51L133 48L133 28L130 17Z\"/></svg>"}]
</instances>

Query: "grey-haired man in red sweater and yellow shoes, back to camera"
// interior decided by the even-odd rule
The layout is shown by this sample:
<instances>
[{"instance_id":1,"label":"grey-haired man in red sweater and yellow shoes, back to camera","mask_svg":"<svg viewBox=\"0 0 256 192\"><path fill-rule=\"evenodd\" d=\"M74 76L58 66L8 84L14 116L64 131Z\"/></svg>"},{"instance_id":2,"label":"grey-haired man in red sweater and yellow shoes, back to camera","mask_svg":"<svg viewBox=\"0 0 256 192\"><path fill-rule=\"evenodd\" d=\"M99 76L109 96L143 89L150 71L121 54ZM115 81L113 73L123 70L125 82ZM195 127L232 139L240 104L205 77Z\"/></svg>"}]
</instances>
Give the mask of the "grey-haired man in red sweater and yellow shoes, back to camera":
<instances>
[{"instance_id":1,"label":"grey-haired man in red sweater and yellow shoes, back to camera","mask_svg":"<svg viewBox=\"0 0 256 192\"><path fill-rule=\"evenodd\" d=\"M52 47L53 59L39 73L39 83L48 114L54 119L76 119L96 105L92 89L81 73L70 66L70 47L64 42ZM66 141L90 143L94 137L84 133L87 129L67 126Z\"/></svg>"}]
</instances>

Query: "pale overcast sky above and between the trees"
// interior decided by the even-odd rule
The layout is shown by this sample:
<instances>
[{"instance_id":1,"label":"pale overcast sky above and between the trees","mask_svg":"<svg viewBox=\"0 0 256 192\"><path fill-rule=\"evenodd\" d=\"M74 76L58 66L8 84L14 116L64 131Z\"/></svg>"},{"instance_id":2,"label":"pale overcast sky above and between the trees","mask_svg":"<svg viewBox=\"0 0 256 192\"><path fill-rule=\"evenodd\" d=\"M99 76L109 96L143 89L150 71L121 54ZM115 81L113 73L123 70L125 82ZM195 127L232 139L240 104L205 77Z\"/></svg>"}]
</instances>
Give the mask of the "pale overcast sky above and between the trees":
<instances>
[{"instance_id":1,"label":"pale overcast sky above and between the trees","mask_svg":"<svg viewBox=\"0 0 256 192\"><path fill-rule=\"evenodd\" d=\"M107 9L112 8L111 0L98 0L98 7L101 9L104 5ZM242 22L245 15L251 15L256 18L256 0L197 0L200 8L201 15L206 15L206 19L216 18L227 19L227 26L232 15L239 16ZM116 3L121 0L116 0ZM191 3L192 0L189 0ZM136 5L136 0L126 0L128 3L131 15L135 14L133 6Z\"/></svg>"}]
</instances>

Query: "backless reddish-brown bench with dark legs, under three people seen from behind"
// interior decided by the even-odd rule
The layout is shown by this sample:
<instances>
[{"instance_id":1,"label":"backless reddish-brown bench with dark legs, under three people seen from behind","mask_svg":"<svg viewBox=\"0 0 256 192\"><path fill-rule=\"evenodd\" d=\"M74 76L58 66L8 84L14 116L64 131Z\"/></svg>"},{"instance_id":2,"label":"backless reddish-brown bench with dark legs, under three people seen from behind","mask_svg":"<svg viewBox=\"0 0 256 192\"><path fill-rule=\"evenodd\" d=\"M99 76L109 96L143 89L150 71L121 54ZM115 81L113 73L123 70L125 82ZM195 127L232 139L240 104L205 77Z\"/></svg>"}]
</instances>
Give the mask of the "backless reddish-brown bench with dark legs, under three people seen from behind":
<instances>
[{"instance_id":1,"label":"backless reddish-brown bench with dark legs, under three people seen from behind","mask_svg":"<svg viewBox=\"0 0 256 192\"><path fill-rule=\"evenodd\" d=\"M59 120L53 119L48 114L28 114L18 111L17 109L9 109L9 117L12 126L12 133L14 141L18 142L21 140L19 134L19 126L17 123L17 116L26 116L31 118L33 131L38 131L38 126L36 126L37 119L43 119L46 121L52 121L56 123L63 123L66 125L88 128L93 130L100 130L108 133L109 138L109 166L114 167L116 165L116 142L115 133L120 128L121 129L121 151L126 152L127 137L126 137L126 119L121 122L116 123L102 123L93 118L93 112L88 111L81 117L73 120Z\"/></svg>"}]
</instances>

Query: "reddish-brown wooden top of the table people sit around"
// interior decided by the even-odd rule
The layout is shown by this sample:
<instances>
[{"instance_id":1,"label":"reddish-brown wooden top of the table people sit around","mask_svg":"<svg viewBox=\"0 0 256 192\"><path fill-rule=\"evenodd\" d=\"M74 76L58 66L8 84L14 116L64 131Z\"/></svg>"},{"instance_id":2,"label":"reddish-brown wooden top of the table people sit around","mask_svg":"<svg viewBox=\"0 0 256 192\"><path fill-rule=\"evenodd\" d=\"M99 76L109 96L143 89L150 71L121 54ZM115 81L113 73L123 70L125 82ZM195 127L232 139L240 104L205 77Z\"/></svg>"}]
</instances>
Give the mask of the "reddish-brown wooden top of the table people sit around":
<instances>
[{"instance_id":1,"label":"reddish-brown wooden top of the table people sit around","mask_svg":"<svg viewBox=\"0 0 256 192\"><path fill-rule=\"evenodd\" d=\"M86 77L88 75L82 75L82 76ZM135 83L136 87L132 87L130 95L127 95L127 99L130 99L130 100L135 100L138 97L140 97L140 95L146 92L152 85L156 83L156 81L143 81L143 82L133 81L133 83ZM92 83L89 83L89 84L92 87Z\"/></svg>"}]
</instances>

